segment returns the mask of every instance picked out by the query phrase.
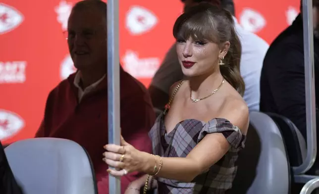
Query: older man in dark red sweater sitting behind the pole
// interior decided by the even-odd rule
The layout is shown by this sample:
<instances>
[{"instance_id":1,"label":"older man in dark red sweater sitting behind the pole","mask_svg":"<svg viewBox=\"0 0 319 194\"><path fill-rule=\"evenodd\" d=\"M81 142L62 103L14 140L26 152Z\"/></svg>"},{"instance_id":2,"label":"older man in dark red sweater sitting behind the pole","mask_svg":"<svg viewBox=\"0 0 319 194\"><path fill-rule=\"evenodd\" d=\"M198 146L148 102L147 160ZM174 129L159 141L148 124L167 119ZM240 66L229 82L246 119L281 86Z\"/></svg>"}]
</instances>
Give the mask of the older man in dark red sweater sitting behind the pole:
<instances>
[{"instance_id":1,"label":"older man in dark red sweater sitting behind the pole","mask_svg":"<svg viewBox=\"0 0 319 194\"><path fill-rule=\"evenodd\" d=\"M36 134L82 145L92 159L100 194L108 194L108 166L102 160L103 146L108 140L106 10L102 0L83 0L74 5L65 35L77 72L49 94ZM146 88L122 68L120 121L121 135L126 141L140 150L152 151L148 132L155 122L155 113L151 98ZM139 176L133 173L122 177L122 192Z\"/></svg>"}]
</instances>

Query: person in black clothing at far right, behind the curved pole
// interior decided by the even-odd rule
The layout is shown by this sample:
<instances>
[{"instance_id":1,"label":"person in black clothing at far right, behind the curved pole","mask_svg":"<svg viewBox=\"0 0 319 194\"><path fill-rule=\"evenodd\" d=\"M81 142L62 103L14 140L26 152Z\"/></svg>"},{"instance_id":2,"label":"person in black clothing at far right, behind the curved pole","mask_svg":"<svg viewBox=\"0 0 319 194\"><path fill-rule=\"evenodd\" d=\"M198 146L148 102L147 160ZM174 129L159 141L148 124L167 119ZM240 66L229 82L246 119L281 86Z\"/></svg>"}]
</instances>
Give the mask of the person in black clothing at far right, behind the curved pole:
<instances>
[{"instance_id":1,"label":"person in black clothing at far right, behind the curved pole","mask_svg":"<svg viewBox=\"0 0 319 194\"><path fill-rule=\"evenodd\" d=\"M313 14L316 120L319 123L319 0L313 0ZM266 53L261 73L260 110L287 117L306 139L302 13L272 42Z\"/></svg>"}]
</instances>

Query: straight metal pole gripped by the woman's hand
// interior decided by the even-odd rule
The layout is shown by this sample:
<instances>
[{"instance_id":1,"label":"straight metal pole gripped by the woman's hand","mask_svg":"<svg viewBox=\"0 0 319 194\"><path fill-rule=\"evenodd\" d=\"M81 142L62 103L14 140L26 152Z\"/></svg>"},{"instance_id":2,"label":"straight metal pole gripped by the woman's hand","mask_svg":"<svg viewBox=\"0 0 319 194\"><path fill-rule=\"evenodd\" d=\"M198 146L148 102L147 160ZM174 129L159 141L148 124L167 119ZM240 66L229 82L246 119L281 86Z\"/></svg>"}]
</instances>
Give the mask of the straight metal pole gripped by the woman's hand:
<instances>
[{"instance_id":1,"label":"straight metal pole gripped by the woman's hand","mask_svg":"<svg viewBox=\"0 0 319 194\"><path fill-rule=\"evenodd\" d=\"M120 144L118 0L107 0L108 144ZM120 194L120 179L109 176L109 194Z\"/></svg>"}]
</instances>

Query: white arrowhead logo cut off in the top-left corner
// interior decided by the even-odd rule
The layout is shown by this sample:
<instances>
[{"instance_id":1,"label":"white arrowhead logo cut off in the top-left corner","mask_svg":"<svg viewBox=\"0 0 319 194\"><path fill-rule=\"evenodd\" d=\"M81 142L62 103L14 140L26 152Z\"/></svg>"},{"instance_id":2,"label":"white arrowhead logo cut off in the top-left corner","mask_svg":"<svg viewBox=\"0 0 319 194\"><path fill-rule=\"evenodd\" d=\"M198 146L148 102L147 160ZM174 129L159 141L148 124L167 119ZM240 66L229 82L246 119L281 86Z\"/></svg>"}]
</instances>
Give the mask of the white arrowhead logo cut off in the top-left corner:
<instances>
[{"instance_id":1,"label":"white arrowhead logo cut off in the top-left corner","mask_svg":"<svg viewBox=\"0 0 319 194\"><path fill-rule=\"evenodd\" d=\"M23 15L14 7L0 3L0 34L7 33L18 27Z\"/></svg>"}]
</instances>

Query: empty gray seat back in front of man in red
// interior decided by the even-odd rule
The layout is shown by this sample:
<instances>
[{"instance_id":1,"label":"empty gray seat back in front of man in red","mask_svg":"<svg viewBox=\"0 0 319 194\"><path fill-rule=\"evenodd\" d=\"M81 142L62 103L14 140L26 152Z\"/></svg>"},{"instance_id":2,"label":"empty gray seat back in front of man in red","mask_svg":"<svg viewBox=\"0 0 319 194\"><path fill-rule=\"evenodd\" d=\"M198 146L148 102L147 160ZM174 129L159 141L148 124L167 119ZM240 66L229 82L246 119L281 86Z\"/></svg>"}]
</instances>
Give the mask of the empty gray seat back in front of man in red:
<instances>
[{"instance_id":1,"label":"empty gray seat back in front of man in red","mask_svg":"<svg viewBox=\"0 0 319 194\"><path fill-rule=\"evenodd\" d=\"M24 194L97 194L90 157L75 142L35 138L4 151Z\"/></svg>"}]
</instances>

